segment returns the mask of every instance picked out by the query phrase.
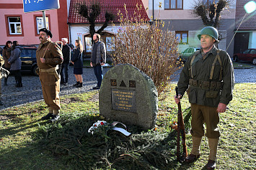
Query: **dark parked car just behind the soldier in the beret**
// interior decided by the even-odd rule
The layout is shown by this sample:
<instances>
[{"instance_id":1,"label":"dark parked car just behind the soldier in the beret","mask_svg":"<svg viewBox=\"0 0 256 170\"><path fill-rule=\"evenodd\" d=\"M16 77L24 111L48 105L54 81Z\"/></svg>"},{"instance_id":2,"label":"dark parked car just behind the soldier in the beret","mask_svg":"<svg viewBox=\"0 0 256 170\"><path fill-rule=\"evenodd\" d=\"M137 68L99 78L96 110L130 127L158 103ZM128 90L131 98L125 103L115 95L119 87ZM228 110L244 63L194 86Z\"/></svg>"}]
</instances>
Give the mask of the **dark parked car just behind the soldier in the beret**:
<instances>
[{"instance_id":1,"label":"dark parked car just behind the soldier in the beret","mask_svg":"<svg viewBox=\"0 0 256 170\"><path fill-rule=\"evenodd\" d=\"M36 47L23 47L20 59L22 60L22 70L26 72L32 72L37 75L35 70L37 69L37 59L35 57Z\"/></svg>"}]
</instances>

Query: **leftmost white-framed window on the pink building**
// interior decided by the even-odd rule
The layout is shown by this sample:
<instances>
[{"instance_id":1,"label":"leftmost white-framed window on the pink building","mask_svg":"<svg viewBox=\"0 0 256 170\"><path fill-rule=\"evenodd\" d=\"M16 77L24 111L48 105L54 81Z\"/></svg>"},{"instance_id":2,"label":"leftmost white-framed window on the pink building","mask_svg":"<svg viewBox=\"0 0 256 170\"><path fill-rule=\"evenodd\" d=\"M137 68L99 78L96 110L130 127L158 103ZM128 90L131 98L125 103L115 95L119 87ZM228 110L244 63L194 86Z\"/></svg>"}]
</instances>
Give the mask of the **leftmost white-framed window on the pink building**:
<instances>
[{"instance_id":1,"label":"leftmost white-framed window on the pink building","mask_svg":"<svg viewBox=\"0 0 256 170\"><path fill-rule=\"evenodd\" d=\"M20 17L8 17L9 34L22 34L22 23Z\"/></svg>"}]
</instances>

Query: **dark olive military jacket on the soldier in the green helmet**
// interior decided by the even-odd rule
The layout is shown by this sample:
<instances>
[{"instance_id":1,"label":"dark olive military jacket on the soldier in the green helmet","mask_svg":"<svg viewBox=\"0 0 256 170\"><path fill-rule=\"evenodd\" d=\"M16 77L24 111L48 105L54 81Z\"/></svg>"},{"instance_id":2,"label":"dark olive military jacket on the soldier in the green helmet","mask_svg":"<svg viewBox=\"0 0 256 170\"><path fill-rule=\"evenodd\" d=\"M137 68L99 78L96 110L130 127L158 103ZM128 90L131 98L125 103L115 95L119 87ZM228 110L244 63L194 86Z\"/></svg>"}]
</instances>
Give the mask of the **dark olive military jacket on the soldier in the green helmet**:
<instances>
[{"instance_id":1,"label":"dark olive military jacket on the soldier in the green helmet","mask_svg":"<svg viewBox=\"0 0 256 170\"><path fill-rule=\"evenodd\" d=\"M225 51L221 49L219 50L221 64L218 60L216 61L212 80L210 80L211 69L213 61L217 55L217 49L215 46L213 46L213 49L211 49L210 52L206 53L204 59L201 54L201 50L195 52L196 55L192 67L190 67L190 64L193 55L188 57L188 60L180 73L180 80L177 86L178 93L181 95L184 95L185 91L190 86L190 93L188 94L190 103L218 107L219 103L228 105L232 100L232 93L234 89L234 68L229 55ZM223 67L222 72L221 66ZM192 69L192 75L190 69ZM198 87L190 85L190 80L192 80L192 77L194 80L193 82L198 82ZM210 85L211 82L220 82L219 84L221 84L221 88L210 89L211 87L207 85L206 87L203 87L203 85L200 86L200 83L202 82L209 82ZM216 93L216 96L208 95L212 92Z\"/></svg>"}]
</instances>

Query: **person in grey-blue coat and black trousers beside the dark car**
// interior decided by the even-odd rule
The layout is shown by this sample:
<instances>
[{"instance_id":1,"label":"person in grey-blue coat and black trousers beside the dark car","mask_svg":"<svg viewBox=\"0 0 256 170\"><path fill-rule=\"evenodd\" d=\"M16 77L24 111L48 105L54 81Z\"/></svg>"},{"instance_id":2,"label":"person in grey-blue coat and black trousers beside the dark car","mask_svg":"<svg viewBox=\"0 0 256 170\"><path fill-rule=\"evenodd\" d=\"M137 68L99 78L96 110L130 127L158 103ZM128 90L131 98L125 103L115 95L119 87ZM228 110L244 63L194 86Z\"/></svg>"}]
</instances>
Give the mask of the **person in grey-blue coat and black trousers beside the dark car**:
<instances>
[{"instance_id":1,"label":"person in grey-blue coat and black trousers beside the dark car","mask_svg":"<svg viewBox=\"0 0 256 170\"><path fill-rule=\"evenodd\" d=\"M9 57L9 64L11 64L11 72L13 72L15 80L17 82L16 87L22 88L22 74L20 70L22 69L22 60L20 60L20 54L22 47L19 46L19 42L14 41L12 46L11 57Z\"/></svg>"}]
</instances>

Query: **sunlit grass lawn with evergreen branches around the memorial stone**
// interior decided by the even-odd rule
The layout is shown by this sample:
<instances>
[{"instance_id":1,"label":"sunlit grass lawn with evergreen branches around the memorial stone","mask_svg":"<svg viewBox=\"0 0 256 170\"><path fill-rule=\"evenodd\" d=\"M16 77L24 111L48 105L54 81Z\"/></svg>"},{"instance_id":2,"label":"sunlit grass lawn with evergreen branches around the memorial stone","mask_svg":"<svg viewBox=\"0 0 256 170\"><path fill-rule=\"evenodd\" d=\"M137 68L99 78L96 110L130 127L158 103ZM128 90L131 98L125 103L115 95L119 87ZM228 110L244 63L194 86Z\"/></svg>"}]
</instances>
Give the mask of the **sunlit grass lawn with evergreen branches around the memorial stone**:
<instances>
[{"instance_id":1,"label":"sunlit grass lawn with evergreen branches around the memorial stone","mask_svg":"<svg viewBox=\"0 0 256 170\"><path fill-rule=\"evenodd\" d=\"M167 98L159 101L156 128L128 126L130 137L112 131L87 133L92 123L104 119L97 91L62 96L61 118L54 124L40 121L48 113L43 101L1 110L0 169L204 169L207 138L194 164L176 161L177 133L170 128L177 119L174 88L172 84ZM220 114L217 169L256 169L255 103L255 84L235 85L229 108ZM186 97L181 105L189 107ZM189 133L186 138L190 153Z\"/></svg>"}]
</instances>

